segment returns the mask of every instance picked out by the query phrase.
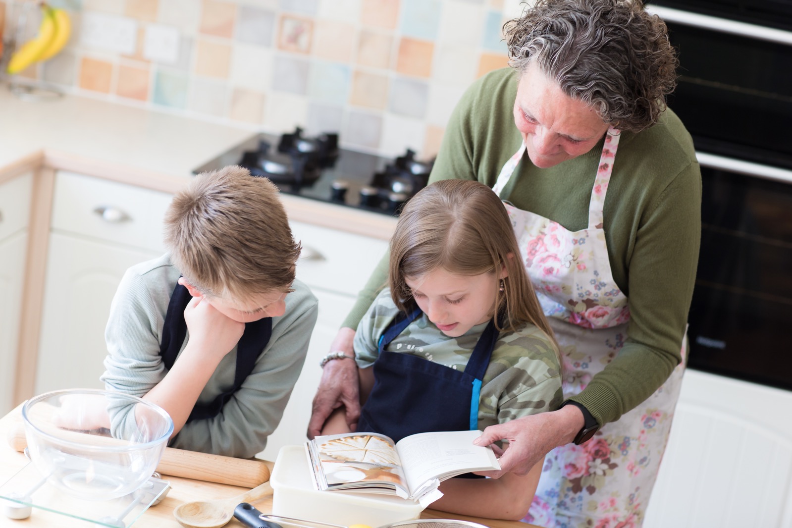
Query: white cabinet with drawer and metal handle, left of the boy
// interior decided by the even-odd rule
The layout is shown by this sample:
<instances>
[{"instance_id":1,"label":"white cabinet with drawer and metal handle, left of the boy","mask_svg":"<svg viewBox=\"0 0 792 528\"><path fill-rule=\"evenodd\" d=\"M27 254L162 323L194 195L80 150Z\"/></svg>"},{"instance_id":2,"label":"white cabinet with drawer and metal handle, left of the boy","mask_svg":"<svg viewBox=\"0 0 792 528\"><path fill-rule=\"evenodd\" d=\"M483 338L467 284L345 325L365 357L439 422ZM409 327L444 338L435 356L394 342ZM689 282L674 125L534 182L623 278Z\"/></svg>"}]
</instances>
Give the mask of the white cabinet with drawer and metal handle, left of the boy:
<instances>
[{"instance_id":1,"label":"white cabinet with drawer and metal handle, left of the boy","mask_svg":"<svg viewBox=\"0 0 792 528\"><path fill-rule=\"evenodd\" d=\"M36 393L101 388L105 325L124 272L163 253L171 196L59 172L55 177Z\"/></svg>"}]
</instances>

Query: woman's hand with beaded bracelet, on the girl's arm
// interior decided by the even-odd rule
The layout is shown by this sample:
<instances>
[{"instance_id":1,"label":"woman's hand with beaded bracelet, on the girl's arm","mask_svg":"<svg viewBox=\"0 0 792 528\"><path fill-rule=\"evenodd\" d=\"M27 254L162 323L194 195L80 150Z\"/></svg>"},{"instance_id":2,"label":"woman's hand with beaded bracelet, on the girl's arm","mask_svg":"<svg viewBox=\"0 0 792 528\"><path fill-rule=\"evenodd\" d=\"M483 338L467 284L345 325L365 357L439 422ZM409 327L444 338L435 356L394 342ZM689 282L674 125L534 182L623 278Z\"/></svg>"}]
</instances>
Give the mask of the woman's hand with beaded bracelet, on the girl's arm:
<instances>
[{"instance_id":1,"label":"woman's hand with beaded bracelet, on the girl's arm","mask_svg":"<svg viewBox=\"0 0 792 528\"><path fill-rule=\"evenodd\" d=\"M343 351L350 358L355 357L352 341L355 331L342 328L338 331L331 351ZM314 396L314 405L308 423L309 439L319 435L327 417L333 409L345 407L345 419L350 430L355 431L360 416L360 395L358 393L357 365L355 360L333 359L322 369L322 380Z\"/></svg>"}]
</instances>

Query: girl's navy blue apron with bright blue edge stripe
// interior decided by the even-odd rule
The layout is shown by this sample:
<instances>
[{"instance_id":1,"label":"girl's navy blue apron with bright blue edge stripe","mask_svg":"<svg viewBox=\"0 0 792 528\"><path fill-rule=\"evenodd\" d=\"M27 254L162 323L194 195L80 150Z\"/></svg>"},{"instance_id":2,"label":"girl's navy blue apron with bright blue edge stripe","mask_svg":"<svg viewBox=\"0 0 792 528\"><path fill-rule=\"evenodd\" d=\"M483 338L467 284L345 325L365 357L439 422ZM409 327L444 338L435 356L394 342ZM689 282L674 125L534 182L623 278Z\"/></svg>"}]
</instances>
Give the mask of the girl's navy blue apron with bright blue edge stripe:
<instances>
[{"instance_id":1,"label":"girl's navy blue apron with bright blue edge stripe","mask_svg":"<svg viewBox=\"0 0 792 528\"><path fill-rule=\"evenodd\" d=\"M498 338L494 319L460 371L417 355L385 350L420 315L420 308L409 315L400 313L379 338L374 387L360 409L357 431L376 432L398 442L415 433L478 429L482 379Z\"/></svg>"}]
</instances>

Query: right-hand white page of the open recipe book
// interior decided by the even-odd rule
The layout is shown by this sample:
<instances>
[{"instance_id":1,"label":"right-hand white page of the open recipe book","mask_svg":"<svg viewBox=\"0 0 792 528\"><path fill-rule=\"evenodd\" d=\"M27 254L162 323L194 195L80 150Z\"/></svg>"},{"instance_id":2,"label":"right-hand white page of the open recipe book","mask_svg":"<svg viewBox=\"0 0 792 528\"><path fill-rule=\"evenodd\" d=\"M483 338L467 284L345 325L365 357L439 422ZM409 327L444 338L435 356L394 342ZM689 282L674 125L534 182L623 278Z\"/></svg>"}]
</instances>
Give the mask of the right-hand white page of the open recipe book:
<instances>
[{"instance_id":1,"label":"right-hand white page of the open recipe book","mask_svg":"<svg viewBox=\"0 0 792 528\"><path fill-rule=\"evenodd\" d=\"M415 493L432 479L501 469L493 450L474 446L481 431L441 431L419 433L401 439L396 448L411 492Z\"/></svg>"}]
</instances>

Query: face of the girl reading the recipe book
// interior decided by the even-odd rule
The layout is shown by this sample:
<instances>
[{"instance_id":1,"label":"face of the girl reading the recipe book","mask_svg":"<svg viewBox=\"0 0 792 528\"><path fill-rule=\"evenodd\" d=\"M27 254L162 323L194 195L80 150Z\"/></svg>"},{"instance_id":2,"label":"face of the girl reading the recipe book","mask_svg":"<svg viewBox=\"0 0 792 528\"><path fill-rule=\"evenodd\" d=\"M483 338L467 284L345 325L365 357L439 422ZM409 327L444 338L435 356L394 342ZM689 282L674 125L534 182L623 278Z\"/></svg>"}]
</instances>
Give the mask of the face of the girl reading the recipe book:
<instances>
[{"instance_id":1,"label":"face of the girl reading the recipe book","mask_svg":"<svg viewBox=\"0 0 792 528\"><path fill-rule=\"evenodd\" d=\"M495 273L457 275L437 268L405 282L429 321L446 336L459 337L493 317L500 279Z\"/></svg>"}]
</instances>

